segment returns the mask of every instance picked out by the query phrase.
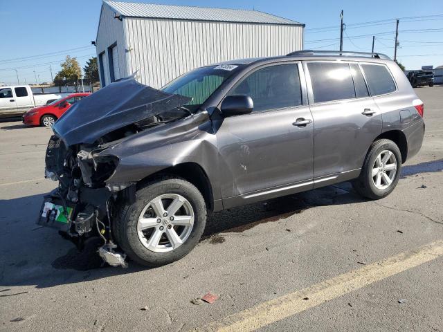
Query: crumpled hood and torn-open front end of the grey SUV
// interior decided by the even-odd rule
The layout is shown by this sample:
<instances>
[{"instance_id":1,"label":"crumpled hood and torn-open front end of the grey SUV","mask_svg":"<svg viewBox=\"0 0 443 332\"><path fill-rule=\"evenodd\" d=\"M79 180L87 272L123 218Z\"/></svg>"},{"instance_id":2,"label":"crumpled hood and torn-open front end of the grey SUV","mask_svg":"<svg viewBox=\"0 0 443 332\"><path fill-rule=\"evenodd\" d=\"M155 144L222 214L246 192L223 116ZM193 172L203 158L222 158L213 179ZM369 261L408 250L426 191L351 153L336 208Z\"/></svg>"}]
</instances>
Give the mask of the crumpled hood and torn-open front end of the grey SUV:
<instances>
[{"instance_id":1,"label":"crumpled hood and torn-open front end of the grey SUV","mask_svg":"<svg viewBox=\"0 0 443 332\"><path fill-rule=\"evenodd\" d=\"M134 201L136 187L135 183L118 186L107 183L120 161L111 150L129 136L192 113L183 107L190 98L163 93L134 80L115 86L120 95L117 107L104 111L102 101L114 98L114 93L112 89L103 89L101 94L98 91L76 103L53 127L55 134L46 150L45 177L58 181L58 187L45 196L37 223L57 228L79 249L91 237L100 237L103 241L98 248L100 257L111 266L126 268L126 255L118 251L113 230L119 206ZM121 100L125 91L130 94L129 105ZM94 109L95 104L100 108ZM89 121L80 118L81 123L73 122L73 112L75 119L86 112L84 117L89 116ZM95 116L91 117L91 112ZM116 115L121 119L119 122L109 121ZM132 120L136 121L128 123ZM99 126L99 130L91 133L92 124ZM103 134L97 137L97 132Z\"/></svg>"}]
</instances>

